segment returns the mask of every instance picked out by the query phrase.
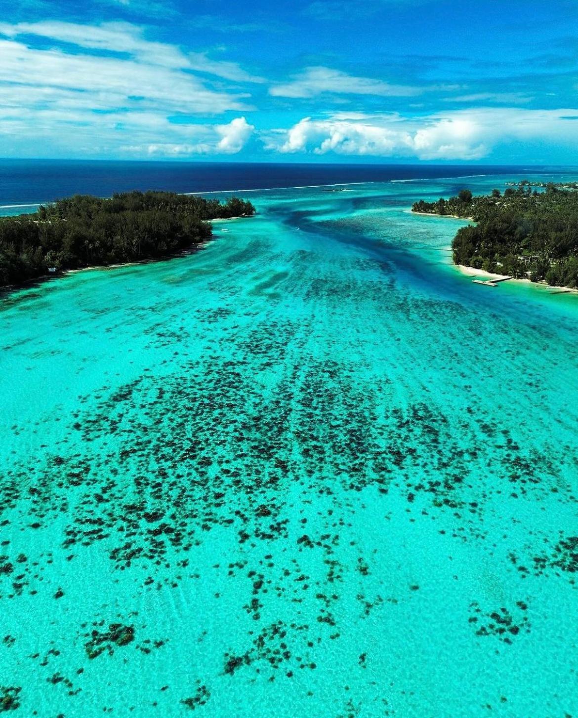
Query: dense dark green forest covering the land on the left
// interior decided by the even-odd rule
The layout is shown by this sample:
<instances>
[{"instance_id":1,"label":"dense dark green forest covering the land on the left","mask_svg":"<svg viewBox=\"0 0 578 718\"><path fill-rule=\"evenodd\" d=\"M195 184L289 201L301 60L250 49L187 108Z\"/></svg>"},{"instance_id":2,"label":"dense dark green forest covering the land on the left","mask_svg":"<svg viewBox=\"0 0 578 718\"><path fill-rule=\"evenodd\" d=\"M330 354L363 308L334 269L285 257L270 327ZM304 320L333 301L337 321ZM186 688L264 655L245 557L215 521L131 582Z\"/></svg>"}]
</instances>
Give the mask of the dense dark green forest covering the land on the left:
<instances>
[{"instance_id":1,"label":"dense dark green forest covering the land on the left","mask_svg":"<svg viewBox=\"0 0 578 718\"><path fill-rule=\"evenodd\" d=\"M30 215L0 218L0 286L49 272L161 258L202 243L209 220L252 216L251 202L174 192L75 195Z\"/></svg>"}]
</instances>

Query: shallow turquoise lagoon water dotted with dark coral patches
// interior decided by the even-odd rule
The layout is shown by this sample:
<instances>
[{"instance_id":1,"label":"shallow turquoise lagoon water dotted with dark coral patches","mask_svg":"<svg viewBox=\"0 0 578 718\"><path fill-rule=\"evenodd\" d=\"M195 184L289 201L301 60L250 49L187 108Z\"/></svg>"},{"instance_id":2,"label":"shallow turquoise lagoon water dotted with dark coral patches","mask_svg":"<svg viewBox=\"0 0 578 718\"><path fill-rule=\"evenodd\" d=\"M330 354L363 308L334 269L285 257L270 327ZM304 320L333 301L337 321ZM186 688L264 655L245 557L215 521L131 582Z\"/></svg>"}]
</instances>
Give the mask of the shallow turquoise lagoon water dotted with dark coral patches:
<instances>
[{"instance_id":1,"label":"shallow turquoise lagoon water dotted with dark coral patches","mask_svg":"<svg viewBox=\"0 0 578 718\"><path fill-rule=\"evenodd\" d=\"M578 298L449 266L463 184L0 300L17 714L578 714Z\"/></svg>"}]
</instances>

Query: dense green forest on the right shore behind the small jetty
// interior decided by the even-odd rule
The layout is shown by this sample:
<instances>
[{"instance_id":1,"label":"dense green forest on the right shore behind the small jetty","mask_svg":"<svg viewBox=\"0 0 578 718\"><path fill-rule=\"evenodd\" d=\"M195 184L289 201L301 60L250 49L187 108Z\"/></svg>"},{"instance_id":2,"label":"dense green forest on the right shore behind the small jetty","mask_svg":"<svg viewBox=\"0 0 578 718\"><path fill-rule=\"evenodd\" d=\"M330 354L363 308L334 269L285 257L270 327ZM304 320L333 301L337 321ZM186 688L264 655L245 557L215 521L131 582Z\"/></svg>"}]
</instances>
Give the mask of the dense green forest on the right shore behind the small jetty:
<instances>
[{"instance_id":1,"label":"dense green forest on the right shore behind the small jetty","mask_svg":"<svg viewBox=\"0 0 578 718\"><path fill-rule=\"evenodd\" d=\"M503 194L416 202L414 212L449 215L477 224L458 230L452 243L455 264L465 264L554 286L578 286L578 192L552 182L532 190L531 182Z\"/></svg>"}]
</instances>

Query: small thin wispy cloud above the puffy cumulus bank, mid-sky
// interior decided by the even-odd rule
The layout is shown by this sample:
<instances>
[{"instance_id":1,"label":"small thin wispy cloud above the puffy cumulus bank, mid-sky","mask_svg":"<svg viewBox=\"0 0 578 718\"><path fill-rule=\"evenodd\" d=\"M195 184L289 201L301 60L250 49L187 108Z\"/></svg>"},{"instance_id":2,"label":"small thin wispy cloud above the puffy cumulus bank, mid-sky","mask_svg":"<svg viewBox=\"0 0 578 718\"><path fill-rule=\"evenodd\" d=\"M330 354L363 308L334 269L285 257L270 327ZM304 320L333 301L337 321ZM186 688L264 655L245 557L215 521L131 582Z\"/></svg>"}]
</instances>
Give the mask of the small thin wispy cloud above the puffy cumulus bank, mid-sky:
<instances>
[{"instance_id":1,"label":"small thin wispy cloud above the puffy cumulus bank, mid-sky","mask_svg":"<svg viewBox=\"0 0 578 718\"><path fill-rule=\"evenodd\" d=\"M411 97L419 95L421 89L390 85L373 78L357 78L330 67L306 67L302 73L294 76L292 82L269 88L269 94L274 97L311 98L322 93Z\"/></svg>"}]
</instances>

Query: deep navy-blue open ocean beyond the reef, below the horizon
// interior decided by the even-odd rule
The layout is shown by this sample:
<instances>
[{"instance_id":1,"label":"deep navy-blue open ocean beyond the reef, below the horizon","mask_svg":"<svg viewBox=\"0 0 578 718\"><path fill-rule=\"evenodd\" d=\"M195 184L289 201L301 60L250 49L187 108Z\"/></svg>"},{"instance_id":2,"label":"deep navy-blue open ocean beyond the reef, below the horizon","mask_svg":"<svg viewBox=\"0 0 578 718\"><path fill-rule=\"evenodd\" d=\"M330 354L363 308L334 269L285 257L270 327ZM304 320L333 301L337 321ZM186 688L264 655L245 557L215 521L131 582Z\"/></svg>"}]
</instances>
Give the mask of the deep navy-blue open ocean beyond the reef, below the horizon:
<instances>
[{"instance_id":1,"label":"deep navy-blue open ocean beyond the reef, below the horizon","mask_svg":"<svg viewBox=\"0 0 578 718\"><path fill-rule=\"evenodd\" d=\"M524 174L556 168L439 164L258 164L238 162L96 162L0 159L0 214L27 211L14 205L90 194L110 197L130 190L219 192L279 189L350 182ZM567 169L567 168L566 168Z\"/></svg>"}]
</instances>

